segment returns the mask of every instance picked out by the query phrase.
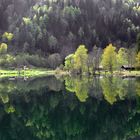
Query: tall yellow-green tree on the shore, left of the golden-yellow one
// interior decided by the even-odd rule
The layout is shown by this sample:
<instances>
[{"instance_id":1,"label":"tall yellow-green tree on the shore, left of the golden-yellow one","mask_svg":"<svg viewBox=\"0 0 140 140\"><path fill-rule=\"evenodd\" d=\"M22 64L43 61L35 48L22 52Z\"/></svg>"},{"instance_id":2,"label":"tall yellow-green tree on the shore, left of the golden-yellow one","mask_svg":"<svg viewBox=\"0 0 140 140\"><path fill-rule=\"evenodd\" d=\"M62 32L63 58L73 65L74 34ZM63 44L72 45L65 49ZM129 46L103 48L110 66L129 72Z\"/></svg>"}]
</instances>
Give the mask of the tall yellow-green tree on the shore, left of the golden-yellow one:
<instances>
[{"instance_id":1,"label":"tall yellow-green tree on the shore, left of the golden-yellow one","mask_svg":"<svg viewBox=\"0 0 140 140\"><path fill-rule=\"evenodd\" d=\"M87 49L84 45L80 45L74 55L74 67L81 72L87 70Z\"/></svg>"}]
</instances>

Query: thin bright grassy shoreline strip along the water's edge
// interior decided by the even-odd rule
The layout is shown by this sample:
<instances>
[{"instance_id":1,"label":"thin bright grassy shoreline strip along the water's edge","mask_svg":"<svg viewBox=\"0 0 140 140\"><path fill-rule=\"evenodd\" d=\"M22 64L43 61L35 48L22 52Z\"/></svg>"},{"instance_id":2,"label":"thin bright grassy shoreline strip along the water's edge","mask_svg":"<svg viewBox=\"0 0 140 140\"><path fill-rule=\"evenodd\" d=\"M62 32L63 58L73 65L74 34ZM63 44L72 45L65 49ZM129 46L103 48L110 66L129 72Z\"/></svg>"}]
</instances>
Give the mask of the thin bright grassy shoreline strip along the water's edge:
<instances>
[{"instance_id":1,"label":"thin bright grassy shoreline strip along the water's edge","mask_svg":"<svg viewBox=\"0 0 140 140\"><path fill-rule=\"evenodd\" d=\"M29 70L6 70L0 69L0 78L6 77L43 77L43 76L65 76L72 75L68 71L63 70L48 70L48 69L29 69ZM114 71L112 74L110 72L101 71L96 72L95 75L82 74L84 76L120 76L120 77L140 77L140 71ZM75 75L74 75L75 76Z\"/></svg>"}]
</instances>

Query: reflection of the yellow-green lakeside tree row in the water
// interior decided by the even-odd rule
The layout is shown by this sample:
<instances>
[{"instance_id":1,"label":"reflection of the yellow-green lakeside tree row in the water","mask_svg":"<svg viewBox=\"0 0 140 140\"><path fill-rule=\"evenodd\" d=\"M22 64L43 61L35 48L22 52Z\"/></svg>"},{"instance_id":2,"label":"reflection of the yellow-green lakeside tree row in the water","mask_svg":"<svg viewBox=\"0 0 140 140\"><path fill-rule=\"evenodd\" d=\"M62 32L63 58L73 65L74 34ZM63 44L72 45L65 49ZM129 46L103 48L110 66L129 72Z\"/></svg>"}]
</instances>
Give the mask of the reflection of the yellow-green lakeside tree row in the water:
<instances>
[{"instance_id":1,"label":"reflection of the yellow-green lakeside tree row in the water","mask_svg":"<svg viewBox=\"0 0 140 140\"><path fill-rule=\"evenodd\" d=\"M121 77L67 77L65 87L74 92L81 102L86 102L89 96L98 100L105 99L111 105L118 100L133 99L140 94L139 78Z\"/></svg>"}]
</instances>

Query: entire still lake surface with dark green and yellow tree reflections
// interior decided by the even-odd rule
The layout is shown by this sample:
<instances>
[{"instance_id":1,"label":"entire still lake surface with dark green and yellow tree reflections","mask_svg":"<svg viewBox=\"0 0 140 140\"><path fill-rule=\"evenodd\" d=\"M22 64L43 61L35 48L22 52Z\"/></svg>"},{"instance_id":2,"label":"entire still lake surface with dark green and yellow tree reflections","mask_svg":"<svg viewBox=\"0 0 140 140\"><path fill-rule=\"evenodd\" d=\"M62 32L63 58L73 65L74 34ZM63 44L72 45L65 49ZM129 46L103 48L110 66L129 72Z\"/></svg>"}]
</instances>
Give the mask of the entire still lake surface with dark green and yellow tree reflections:
<instances>
[{"instance_id":1,"label":"entire still lake surface with dark green and yellow tree reflections","mask_svg":"<svg viewBox=\"0 0 140 140\"><path fill-rule=\"evenodd\" d=\"M0 140L140 140L140 78L0 80Z\"/></svg>"}]
</instances>

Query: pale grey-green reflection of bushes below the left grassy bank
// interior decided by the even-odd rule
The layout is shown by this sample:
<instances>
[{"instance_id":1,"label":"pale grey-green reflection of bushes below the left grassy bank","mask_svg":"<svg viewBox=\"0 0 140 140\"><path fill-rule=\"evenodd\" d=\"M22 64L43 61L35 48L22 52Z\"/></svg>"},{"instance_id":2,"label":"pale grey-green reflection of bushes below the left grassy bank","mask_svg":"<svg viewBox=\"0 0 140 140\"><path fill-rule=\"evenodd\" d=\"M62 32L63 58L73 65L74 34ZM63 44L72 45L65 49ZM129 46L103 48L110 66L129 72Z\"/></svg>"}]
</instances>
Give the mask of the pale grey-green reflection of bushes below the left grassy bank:
<instances>
[{"instance_id":1,"label":"pale grey-green reflection of bushes below the left grassy bank","mask_svg":"<svg viewBox=\"0 0 140 140\"><path fill-rule=\"evenodd\" d=\"M0 81L0 98L3 103L9 102L9 96L22 95L36 92L42 94L41 89L47 89L52 91L60 91L63 87L63 83L57 80L55 77L37 78L28 81L15 80L9 81L3 79ZM26 96L27 97L27 96Z\"/></svg>"}]
</instances>

